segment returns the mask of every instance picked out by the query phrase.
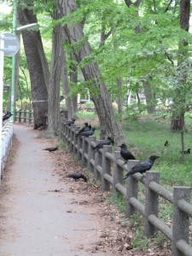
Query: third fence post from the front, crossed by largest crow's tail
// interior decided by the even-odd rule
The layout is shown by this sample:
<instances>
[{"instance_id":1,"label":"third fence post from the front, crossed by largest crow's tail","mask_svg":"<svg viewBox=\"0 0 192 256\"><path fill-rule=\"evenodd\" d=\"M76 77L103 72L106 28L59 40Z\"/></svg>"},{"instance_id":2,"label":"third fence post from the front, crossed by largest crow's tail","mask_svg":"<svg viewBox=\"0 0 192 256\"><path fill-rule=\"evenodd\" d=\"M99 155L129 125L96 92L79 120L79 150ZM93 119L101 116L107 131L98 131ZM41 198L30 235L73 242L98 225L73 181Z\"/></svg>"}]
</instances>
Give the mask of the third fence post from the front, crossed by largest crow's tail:
<instances>
[{"instance_id":1,"label":"third fence post from the front, crossed by largest crow's tail","mask_svg":"<svg viewBox=\"0 0 192 256\"><path fill-rule=\"evenodd\" d=\"M138 160L128 160L127 162L127 170L131 171L133 166L136 166L139 163ZM135 207L133 207L130 203L130 198L135 197L138 198L138 182L137 179L132 175L126 178L126 208L125 208L125 217L129 218L136 212Z\"/></svg>"}]
</instances>

